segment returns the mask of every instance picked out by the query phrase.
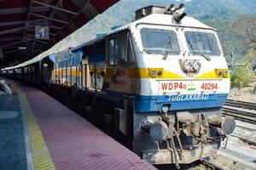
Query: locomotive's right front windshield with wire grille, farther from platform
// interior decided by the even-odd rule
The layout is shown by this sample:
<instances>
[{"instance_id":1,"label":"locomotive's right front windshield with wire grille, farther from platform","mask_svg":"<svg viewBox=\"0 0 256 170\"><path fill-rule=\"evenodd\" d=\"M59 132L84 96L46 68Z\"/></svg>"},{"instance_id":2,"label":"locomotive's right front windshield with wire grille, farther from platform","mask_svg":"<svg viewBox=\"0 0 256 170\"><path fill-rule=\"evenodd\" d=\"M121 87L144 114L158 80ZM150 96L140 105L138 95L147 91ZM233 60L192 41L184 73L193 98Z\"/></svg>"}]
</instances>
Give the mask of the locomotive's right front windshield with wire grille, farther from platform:
<instances>
[{"instance_id":1,"label":"locomotive's right front windshield with wire grille, farther from platform","mask_svg":"<svg viewBox=\"0 0 256 170\"><path fill-rule=\"evenodd\" d=\"M219 55L218 43L212 33L186 31L185 37L191 54Z\"/></svg>"}]
</instances>

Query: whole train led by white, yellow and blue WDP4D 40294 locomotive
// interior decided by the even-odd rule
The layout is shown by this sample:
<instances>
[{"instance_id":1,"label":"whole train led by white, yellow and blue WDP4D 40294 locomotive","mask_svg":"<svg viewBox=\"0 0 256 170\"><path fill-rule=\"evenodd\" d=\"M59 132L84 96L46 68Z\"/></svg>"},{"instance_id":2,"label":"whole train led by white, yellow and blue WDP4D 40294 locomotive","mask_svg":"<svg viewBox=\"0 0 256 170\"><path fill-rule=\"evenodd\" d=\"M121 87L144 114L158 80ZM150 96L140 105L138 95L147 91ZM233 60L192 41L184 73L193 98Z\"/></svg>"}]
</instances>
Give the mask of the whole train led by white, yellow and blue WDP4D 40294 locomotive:
<instances>
[{"instance_id":1,"label":"whole train led by white, yellow and blue WDP4D 40294 locomotive","mask_svg":"<svg viewBox=\"0 0 256 170\"><path fill-rule=\"evenodd\" d=\"M43 88L113 127L152 164L178 167L215 155L236 126L221 114L230 72L218 31L184 8L140 8L125 26L2 69L2 75Z\"/></svg>"}]
</instances>

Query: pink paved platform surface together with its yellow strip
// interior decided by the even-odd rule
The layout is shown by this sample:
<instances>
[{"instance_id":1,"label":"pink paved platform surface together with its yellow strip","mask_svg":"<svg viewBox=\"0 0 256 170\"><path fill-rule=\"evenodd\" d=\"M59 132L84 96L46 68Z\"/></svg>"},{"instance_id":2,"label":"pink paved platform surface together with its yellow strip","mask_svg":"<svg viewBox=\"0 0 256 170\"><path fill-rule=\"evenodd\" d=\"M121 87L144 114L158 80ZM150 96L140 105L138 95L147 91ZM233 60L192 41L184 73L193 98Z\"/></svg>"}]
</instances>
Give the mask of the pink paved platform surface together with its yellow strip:
<instances>
[{"instance_id":1,"label":"pink paved platform surface together with its yellow strip","mask_svg":"<svg viewBox=\"0 0 256 170\"><path fill-rule=\"evenodd\" d=\"M15 83L33 169L156 169L48 94Z\"/></svg>"}]
</instances>

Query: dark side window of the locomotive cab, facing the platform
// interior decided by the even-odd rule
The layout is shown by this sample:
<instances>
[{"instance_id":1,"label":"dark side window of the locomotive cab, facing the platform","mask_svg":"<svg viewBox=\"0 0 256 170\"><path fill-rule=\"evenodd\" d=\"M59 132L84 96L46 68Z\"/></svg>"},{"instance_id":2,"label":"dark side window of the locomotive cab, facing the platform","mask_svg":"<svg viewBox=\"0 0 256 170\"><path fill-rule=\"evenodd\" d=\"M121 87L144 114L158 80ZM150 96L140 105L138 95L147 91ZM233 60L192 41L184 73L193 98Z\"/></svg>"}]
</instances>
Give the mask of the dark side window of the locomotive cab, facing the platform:
<instances>
[{"instance_id":1,"label":"dark side window of the locomotive cab, facing the platform","mask_svg":"<svg viewBox=\"0 0 256 170\"><path fill-rule=\"evenodd\" d=\"M127 34L108 41L109 65L131 65L133 60Z\"/></svg>"}]
</instances>

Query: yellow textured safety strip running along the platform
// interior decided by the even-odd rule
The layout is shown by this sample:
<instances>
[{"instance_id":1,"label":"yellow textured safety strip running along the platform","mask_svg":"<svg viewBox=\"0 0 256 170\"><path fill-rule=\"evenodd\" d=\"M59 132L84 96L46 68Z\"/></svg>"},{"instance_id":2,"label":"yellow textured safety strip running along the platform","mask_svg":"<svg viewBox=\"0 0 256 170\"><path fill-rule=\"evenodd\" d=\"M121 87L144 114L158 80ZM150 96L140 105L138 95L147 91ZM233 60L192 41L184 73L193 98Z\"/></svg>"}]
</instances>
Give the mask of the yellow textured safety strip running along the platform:
<instances>
[{"instance_id":1,"label":"yellow textured safety strip running along the platform","mask_svg":"<svg viewBox=\"0 0 256 170\"><path fill-rule=\"evenodd\" d=\"M45 144L44 137L41 133L38 122L33 115L32 109L26 99L26 94L18 89L20 96L20 103L23 105L26 124L30 138L32 149L32 161L34 170L55 170L55 164L52 161L47 145Z\"/></svg>"}]
</instances>

